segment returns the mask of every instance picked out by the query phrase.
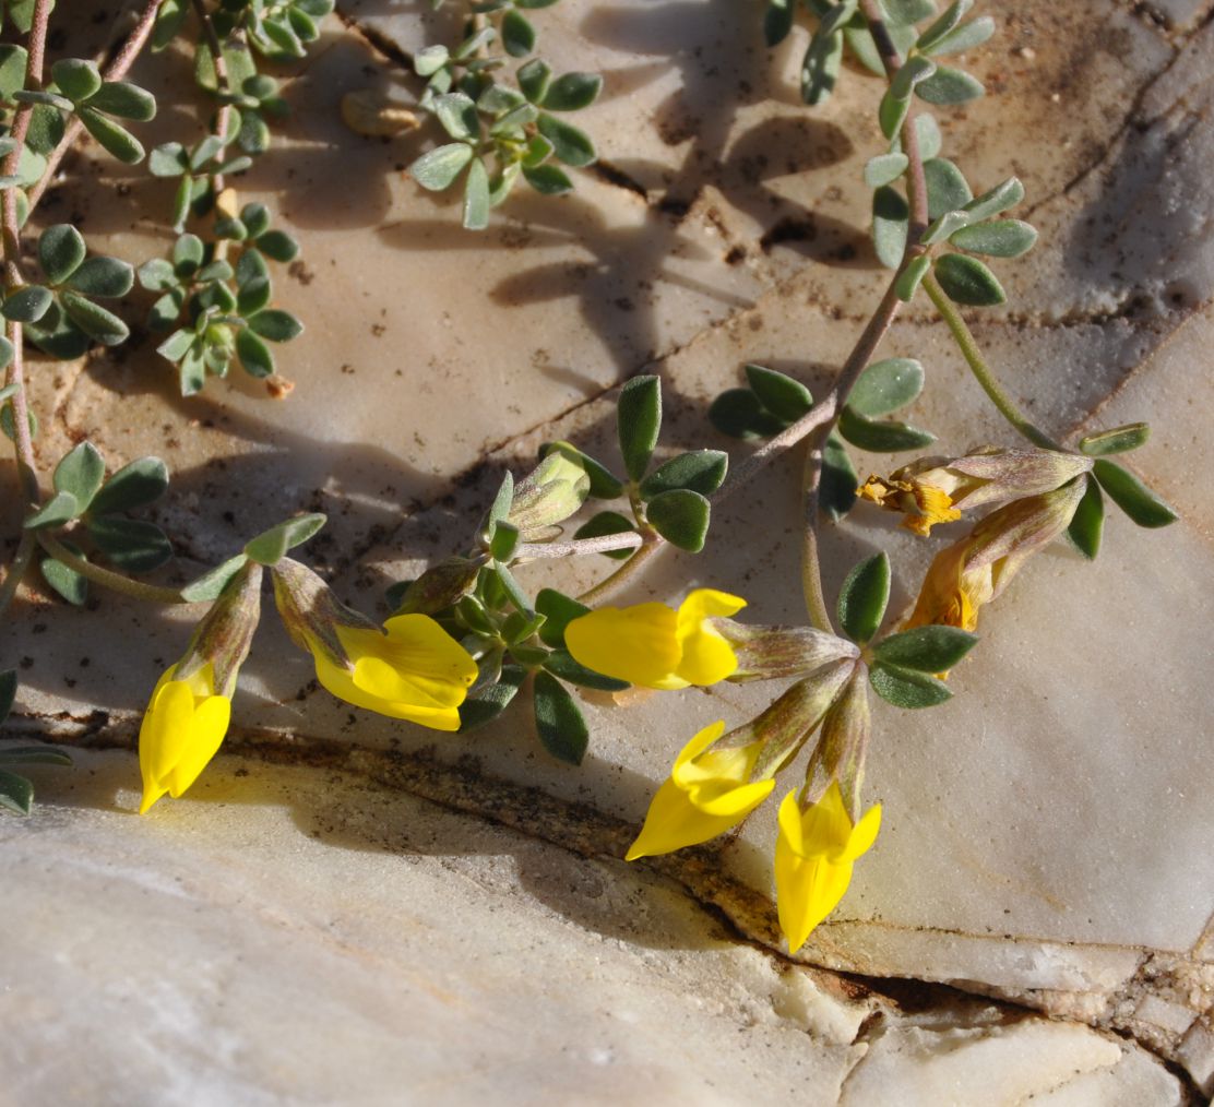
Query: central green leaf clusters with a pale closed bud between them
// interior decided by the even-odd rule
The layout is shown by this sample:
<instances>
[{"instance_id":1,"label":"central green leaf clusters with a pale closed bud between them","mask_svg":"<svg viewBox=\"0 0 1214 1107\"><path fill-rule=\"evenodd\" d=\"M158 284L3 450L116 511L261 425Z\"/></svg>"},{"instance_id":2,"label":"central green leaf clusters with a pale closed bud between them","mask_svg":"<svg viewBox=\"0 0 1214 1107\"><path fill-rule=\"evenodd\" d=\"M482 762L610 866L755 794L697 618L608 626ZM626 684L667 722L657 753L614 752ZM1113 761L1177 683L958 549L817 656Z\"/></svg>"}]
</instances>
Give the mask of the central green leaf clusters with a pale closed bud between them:
<instances>
[{"instance_id":1,"label":"central green leaf clusters with a pale closed bud between them","mask_svg":"<svg viewBox=\"0 0 1214 1107\"><path fill-rule=\"evenodd\" d=\"M636 545L668 541L691 552L704 547L711 509L708 496L725 479L720 450L680 453L653 464L662 428L662 388L656 376L637 376L618 405L623 476L568 442L550 442L539 465L515 483L507 472L480 523L475 541L412 581L388 590L397 614L416 612L438 623L477 659L480 677L460 708L461 730L495 719L532 677L535 730L555 757L579 763L590 733L568 685L622 691L624 681L579 665L565 648L565 629L589 608L556 589L534 597L514 567L527 544L554 541L561 524L584 504L619 501L597 510L574 538L636 535ZM608 557L639 556L634 549Z\"/></svg>"}]
</instances>

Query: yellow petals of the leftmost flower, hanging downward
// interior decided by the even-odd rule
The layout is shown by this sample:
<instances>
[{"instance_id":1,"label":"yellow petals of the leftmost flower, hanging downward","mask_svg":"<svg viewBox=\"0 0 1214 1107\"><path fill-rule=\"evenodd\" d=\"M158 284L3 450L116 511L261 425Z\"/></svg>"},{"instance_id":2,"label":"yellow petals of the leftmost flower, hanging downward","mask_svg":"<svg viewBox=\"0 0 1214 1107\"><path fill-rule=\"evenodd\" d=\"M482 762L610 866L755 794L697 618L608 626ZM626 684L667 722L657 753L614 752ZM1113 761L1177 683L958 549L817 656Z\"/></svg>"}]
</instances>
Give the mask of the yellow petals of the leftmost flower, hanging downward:
<instances>
[{"instance_id":1,"label":"yellow petals of the leftmost flower, hanging downward","mask_svg":"<svg viewBox=\"0 0 1214 1107\"><path fill-rule=\"evenodd\" d=\"M182 680L175 676L180 668L174 665L157 682L140 727L140 814L165 793L177 799L198 779L232 717L232 700L215 692L210 662Z\"/></svg>"}]
</instances>

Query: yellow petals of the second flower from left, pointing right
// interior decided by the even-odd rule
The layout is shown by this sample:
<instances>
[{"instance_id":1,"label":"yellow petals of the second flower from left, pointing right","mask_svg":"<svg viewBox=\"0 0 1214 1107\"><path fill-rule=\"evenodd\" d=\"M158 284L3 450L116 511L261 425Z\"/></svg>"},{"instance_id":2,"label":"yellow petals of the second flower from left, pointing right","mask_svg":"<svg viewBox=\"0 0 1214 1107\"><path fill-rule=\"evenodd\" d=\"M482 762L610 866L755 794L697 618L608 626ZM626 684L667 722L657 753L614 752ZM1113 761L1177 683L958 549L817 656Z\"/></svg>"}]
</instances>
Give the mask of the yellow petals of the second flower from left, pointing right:
<instances>
[{"instance_id":1,"label":"yellow petals of the second flower from left, pointing right","mask_svg":"<svg viewBox=\"0 0 1214 1107\"><path fill-rule=\"evenodd\" d=\"M333 628L345 658L308 647L317 680L339 699L436 731L459 730L459 705L476 680L476 662L429 615L395 615L380 631Z\"/></svg>"}]
</instances>

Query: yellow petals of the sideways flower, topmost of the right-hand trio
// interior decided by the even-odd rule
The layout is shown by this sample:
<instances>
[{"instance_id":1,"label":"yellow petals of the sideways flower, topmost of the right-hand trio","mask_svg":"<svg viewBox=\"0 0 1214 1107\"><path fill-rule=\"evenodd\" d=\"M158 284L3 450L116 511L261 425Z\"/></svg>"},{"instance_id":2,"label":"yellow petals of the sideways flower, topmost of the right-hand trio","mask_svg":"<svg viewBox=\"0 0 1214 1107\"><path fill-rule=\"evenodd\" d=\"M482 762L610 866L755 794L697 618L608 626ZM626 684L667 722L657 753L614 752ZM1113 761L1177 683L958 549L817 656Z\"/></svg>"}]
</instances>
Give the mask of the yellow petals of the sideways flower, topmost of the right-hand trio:
<instances>
[{"instance_id":1,"label":"yellow petals of the sideways flower, topmost of the right-hand trio","mask_svg":"<svg viewBox=\"0 0 1214 1107\"><path fill-rule=\"evenodd\" d=\"M569 623L565 645L588 669L646 688L715 685L738 659L710 620L745 606L728 592L696 589L677 612L664 603L603 607Z\"/></svg>"}]
</instances>

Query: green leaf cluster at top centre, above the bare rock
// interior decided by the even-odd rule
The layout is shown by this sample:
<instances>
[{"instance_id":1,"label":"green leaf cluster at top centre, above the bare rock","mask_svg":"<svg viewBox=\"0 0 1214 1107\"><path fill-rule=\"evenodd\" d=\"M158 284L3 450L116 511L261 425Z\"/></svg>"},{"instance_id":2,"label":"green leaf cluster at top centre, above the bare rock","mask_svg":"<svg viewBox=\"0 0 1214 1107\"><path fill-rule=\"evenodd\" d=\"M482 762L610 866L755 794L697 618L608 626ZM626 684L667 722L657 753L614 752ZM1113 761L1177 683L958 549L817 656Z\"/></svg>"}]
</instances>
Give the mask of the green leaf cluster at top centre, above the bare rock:
<instances>
[{"instance_id":1,"label":"green leaf cluster at top centre, above the bare rock","mask_svg":"<svg viewBox=\"0 0 1214 1107\"><path fill-rule=\"evenodd\" d=\"M442 2L432 0L436 8ZM535 50L538 33L523 12L555 2L471 4L455 46L427 46L413 59L418 75L426 78L420 106L452 141L422 154L409 172L433 192L463 177L464 226L470 231L488 226L490 209L520 177L544 195L561 195L573 188L561 165L583 168L597 157L590 136L561 117L592 104L601 76L555 75L548 62L533 57L505 79L507 66ZM492 52L497 47L504 53Z\"/></svg>"}]
</instances>

